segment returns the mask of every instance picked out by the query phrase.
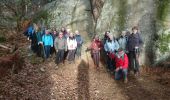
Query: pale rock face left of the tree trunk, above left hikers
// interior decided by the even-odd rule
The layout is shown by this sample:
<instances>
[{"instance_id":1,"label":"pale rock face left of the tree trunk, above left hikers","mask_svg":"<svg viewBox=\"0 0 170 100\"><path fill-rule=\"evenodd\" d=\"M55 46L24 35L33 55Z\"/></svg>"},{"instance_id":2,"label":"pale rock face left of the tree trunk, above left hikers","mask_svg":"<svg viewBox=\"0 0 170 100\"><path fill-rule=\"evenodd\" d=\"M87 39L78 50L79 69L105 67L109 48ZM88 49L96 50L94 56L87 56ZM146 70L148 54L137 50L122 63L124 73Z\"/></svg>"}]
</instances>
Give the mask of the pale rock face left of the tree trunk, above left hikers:
<instances>
[{"instance_id":1,"label":"pale rock face left of the tree trunk, above left hikers","mask_svg":"<svg viewBox=\"0 0 170 100\"><path fill-rule=\"evenodd\" d=\"M66 27L73 32L93 32L90 0L56 0L45 7L51 14L50 27Z\"/></svg>"}]
</instances>

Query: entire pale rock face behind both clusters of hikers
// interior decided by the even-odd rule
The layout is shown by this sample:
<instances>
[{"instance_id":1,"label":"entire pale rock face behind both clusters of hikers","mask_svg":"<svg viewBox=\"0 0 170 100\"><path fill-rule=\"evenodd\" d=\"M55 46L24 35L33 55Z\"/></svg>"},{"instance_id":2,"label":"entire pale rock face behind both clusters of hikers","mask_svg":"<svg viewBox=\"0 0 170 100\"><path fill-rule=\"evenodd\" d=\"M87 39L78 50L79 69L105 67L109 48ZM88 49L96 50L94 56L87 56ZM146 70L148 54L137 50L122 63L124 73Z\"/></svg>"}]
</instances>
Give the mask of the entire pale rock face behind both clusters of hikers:
<instances>
[{"instance_id":1,"label":"entire pale rock face behind both clusters of hikers","mask_svg":"<svg viewBox=\"0 0 170 100\"><path fill-rule=\"evenodd\" d=\"M161 43L169 39L164 41L160 34L170 34L170 0L55 0L44 9L51 14L50 27L78 29L85 38L94 32L103 36L107 30L118 36L139 26L144 41L141 64L153 64L169 54L167 48L161 52L165 48Z\"/></svg>"}]
</instances>

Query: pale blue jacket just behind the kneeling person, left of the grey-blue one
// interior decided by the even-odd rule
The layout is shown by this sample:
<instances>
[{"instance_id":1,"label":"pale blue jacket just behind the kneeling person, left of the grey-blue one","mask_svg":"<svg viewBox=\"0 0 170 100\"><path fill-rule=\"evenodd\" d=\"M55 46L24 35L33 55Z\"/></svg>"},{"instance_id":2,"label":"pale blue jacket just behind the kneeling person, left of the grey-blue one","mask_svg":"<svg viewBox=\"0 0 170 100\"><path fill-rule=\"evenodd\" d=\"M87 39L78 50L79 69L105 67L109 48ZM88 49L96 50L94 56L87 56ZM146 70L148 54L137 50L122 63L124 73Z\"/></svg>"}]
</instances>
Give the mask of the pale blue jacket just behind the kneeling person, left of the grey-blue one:
<instances>
[{"instance_id":1,"label":"pale blue jacket just behind the kneeling person, left of the grey-blue one","mask_svg":"<svg viewBox=\"0 0 170 100\"><path fill-rule=\"evenodd\" d=\"M119 49L119 44L118 42L115 40L109 41L107 40L106 43L104 44L104 50L106 52L115 52Z\"/></svg>"}]
</instances>

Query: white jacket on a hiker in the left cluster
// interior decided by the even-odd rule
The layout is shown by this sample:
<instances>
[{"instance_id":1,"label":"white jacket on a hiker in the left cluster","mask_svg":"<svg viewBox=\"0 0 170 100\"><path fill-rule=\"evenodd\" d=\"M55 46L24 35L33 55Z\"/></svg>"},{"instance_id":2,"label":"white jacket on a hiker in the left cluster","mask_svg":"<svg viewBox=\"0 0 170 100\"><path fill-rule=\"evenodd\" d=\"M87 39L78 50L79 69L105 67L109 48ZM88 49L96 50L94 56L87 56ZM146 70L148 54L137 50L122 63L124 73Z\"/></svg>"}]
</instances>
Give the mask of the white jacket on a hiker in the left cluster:
<instances>
[{"instance_id":1,"label":"white jacket on a hiker in the left cluster","mask_svg":"<svg viewBox=\"0 0 170 100\"><path fill-rule=\"evenodd\" d=\"M77 41L76 39L69 39L67 38L67 46L68 50L75 50L77 48Z\"/></svg>"}]
</instances>

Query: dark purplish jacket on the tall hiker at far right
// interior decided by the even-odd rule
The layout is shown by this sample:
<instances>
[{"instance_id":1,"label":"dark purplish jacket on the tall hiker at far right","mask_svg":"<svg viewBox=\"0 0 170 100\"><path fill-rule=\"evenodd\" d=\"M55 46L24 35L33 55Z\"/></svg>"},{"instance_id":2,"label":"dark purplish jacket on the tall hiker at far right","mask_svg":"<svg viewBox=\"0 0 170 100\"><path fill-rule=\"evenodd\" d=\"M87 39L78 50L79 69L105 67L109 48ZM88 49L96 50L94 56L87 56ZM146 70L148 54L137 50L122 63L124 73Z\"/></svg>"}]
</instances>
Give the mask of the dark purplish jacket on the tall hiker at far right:
<instances>
[{"instance_id":1,"label":"dark purplish jacket on the tall hiker at far right","mask_svg":"<svg viewBox=\"0 0 170 100\"><path fill-rule=\"evenodd\" d=\"M135 47L140 47L143 44L142 38L139 33L132 33L128 37L127 51L134 51Z\"/></svg>"}]
</instances>

